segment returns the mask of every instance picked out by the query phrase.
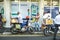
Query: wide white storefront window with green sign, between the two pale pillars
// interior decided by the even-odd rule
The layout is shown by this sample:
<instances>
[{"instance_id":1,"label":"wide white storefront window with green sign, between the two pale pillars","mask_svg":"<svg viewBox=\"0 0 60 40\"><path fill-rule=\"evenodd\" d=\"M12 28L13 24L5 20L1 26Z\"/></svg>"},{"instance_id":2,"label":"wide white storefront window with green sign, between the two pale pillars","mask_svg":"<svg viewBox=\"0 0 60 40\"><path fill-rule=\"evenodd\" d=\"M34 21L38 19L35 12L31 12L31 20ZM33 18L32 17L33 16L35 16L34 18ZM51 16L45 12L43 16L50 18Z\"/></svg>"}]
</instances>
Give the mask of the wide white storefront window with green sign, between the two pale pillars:
<instances>
[{"instance_id":1,"label":"wide white storefront window with green sign, between the two pale pillars","mask_svg":"<svg viewBox=\"0 0 60 40\"><path fill-rule=\"evenodd\" d=\"M11 0L11 17L16 17L19 11L23 18L28 16L33 16L32 14L37 14L38 12L38 1L37 0Z\"/></svg>"}]
</instances>

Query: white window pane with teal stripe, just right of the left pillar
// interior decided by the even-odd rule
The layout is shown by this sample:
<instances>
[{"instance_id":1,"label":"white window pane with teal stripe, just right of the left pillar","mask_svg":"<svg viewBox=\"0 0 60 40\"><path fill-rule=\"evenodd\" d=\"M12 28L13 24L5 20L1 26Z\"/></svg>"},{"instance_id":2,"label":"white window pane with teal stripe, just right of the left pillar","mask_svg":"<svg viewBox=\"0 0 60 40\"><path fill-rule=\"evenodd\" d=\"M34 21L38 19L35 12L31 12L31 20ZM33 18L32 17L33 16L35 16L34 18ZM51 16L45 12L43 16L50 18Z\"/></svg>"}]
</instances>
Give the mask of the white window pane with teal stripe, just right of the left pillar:
<instances>
[{"instance_id":1,"label":"white window pane with teal stripe, just right of the left pillar","mask_svg":"<svg viewBox=\"0 0 60 40\"><path fill-rule=\"evenodd\" d=\"M15 18L17 16L17 12L19 11L18 2L11 1L11 17Z\"/></svg>"}]
</instances>

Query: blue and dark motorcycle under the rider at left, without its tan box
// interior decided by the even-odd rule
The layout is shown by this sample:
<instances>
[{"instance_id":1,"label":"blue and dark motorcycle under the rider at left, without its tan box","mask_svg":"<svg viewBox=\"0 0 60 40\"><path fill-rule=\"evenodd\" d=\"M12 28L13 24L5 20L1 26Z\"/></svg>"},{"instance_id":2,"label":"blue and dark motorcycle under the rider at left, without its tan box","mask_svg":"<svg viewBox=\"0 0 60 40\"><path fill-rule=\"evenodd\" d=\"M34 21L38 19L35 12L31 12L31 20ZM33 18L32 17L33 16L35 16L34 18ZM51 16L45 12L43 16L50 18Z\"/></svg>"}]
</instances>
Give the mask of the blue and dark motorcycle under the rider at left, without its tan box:
<instances>
[{"instance_id":1,"label":"blue and dark motorcycle under the rider at left, without its tan box","mask_svg":"<svg viewBox=\"0 0 60 40\"><path fill-rule=\"evenodd\" d=\"M24 19L25 20L25 19ZM29 23L28 23L29 24ZM24 33L24 32L29 32L32 33L32 27L29 26L26 22L22 23L22 28L20 26L20 23L13 23L12 24L12 28L11 28L11 32L12 34L17 34L17 33ZM28 25L28 26L27 26Z\"/></svg>"}]
</instances>

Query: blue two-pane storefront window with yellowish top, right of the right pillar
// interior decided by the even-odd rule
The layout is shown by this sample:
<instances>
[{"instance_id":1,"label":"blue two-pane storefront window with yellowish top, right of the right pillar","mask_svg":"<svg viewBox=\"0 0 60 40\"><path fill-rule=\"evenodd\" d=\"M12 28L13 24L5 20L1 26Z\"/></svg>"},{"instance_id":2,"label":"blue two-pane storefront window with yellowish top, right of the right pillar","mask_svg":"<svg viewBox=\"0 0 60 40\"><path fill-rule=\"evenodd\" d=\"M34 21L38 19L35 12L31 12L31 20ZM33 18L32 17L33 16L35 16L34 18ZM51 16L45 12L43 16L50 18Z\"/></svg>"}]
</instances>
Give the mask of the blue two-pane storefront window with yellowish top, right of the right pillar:
<instances>
[{"instance_id":1,"label":"blue two-pane storefront window with yellowish top, right of the right pillar","mask_svg":"<svg viewBox=\"0 0 60 40\"><path fill-rule=\"evenodd\" d=\"M59 0L44 0L44 12L50 11L52 18L59 13Z\"/></svg>"}]
</instances>

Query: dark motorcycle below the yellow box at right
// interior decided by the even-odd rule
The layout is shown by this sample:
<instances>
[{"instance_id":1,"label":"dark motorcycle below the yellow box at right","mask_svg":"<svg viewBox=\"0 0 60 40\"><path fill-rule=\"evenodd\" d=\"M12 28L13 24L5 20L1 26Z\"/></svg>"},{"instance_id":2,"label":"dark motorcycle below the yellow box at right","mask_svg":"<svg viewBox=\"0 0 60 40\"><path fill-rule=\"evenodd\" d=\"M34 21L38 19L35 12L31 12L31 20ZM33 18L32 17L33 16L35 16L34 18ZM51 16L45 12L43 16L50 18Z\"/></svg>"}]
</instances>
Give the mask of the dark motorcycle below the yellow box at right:
<instances>
[{"instance_id":1,"label":"dark motorcycle below the yellow box at right","mask_svg":"<svg viewBox=\"0 0 60 40\"><path fill-rule=\"evenodd\" d=\"M54 25L46 25L46 28L43 30L43 34L45 36L50 36L54 33L55 26Z\"/></svg>"}]
</instances>

